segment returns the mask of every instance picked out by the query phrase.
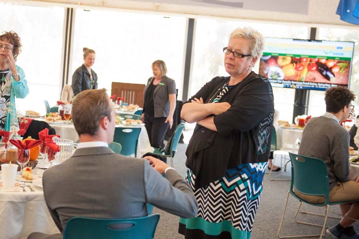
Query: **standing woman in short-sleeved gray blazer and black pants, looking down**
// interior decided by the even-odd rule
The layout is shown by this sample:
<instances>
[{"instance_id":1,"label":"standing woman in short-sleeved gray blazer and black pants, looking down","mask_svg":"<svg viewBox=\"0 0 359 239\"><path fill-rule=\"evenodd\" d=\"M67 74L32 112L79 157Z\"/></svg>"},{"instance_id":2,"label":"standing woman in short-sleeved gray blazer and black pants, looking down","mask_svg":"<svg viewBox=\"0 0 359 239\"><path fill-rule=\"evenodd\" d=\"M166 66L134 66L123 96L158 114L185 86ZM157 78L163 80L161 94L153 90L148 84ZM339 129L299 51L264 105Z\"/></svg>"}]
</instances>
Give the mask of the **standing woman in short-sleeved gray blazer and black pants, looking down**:
<instances>
[{"instance_id":1,"label":"standing woman in short-sleeved gray blazer and black pants, looking down","mask_svg":"<svg viewBox=\"0 0 359 239\"><path fill-rule=\"evenodd\" d=\"M141 116L152 147L163 148L164 135L168 126L172 128L176 109L176 83L168 78L162 60L152 63L153 77L144 88L144 110Z\"/></svg>"}]
</instances>

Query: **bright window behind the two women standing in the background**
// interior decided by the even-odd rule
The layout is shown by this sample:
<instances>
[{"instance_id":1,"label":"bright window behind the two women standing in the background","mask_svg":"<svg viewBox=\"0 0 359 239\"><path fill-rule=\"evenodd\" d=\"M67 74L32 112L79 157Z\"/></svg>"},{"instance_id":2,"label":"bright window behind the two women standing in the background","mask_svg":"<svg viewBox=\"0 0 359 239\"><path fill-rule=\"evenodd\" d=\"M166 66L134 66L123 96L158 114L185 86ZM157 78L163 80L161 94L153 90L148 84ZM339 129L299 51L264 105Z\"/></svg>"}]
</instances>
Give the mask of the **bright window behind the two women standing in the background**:
<instances>
[{"instance_id":1,"label":"bright window behind the two women standing in the background","mask_svg":"<svg viewBox=\"0 0 359 239\"><path fill-rule=\"evenodd\" d=\"M76 9L69 84L88 47L96 52L92 69L98 88L109 92L112 82L146 84L152 62L161 59L181 95L185 29L184 17Z\"/></svg>"}]
</instances>

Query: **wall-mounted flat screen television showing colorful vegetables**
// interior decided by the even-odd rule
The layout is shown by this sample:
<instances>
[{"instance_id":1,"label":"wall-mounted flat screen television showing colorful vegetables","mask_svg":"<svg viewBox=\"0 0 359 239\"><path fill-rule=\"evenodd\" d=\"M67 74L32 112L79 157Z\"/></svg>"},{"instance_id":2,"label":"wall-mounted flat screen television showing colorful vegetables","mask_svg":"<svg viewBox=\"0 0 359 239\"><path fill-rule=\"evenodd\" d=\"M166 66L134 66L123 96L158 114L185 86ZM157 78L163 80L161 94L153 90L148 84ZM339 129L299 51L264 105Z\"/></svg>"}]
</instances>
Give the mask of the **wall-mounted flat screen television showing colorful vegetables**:
<instances>
[{"instance_id":1,"label":"wall-mounted flat screen television showing colorful vegetables","mask_svg":"<svg viewBox=\"0 0 359 239\"><path fill-rule=\"evenodd\" d=\"M259 74L273 87L325 91L349 87L354 42L266 37Z\"/></svg>"}]
</instances>

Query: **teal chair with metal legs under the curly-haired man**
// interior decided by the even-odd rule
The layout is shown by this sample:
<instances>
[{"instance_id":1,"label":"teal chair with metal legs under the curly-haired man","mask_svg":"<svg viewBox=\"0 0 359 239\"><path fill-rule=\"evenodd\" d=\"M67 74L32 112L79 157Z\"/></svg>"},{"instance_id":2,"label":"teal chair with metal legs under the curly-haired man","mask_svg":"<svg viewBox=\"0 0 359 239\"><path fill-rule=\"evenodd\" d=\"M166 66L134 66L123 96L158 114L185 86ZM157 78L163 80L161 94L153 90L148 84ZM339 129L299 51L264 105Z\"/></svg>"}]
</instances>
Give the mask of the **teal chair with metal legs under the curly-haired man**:
<instances>
[{"instance_id":1,"label":"teal chair with metal legs under the curly-haired man","mask_svg":"<svg viewBox=\"0 0 359 239\"><path fill-rule=\"evenodd\" d=\"M328 172L326 168L326 164L321 159L306 157L294 153L289 153L290 162L291 162L291 171L292 171L292 179L290 182L290 188L287 193L287 201L284 206L283 215L281 222L279 224L277 235L279 238L306 238L306 237L320 237L323 238L325 235L325 224L326 220L329 217L329 206L347 202L329 202L329 179L328 179ZM296 191L299 191L303 194L312 195L312 196L323 196L323 203L315 204L311 202L307 202L304 199L300 198L296 195L293 191L293 187ZM284 216L286 214L287 203L289 194L291 194L294 198L300 201L297 212L295 214L294 220L297 223L305 224L305 225L312 225L312 226L319 226L322 227L321 234L318 235L298 235L298 236L280 236L280 230L282 227L282 223L284 220ZM325 206L325 215L315 214L311 212L303 212L300 211L302 202L313 206ZM312 214L312 215L319 215L324 216L323 225L308 223L305 221L298 221L297 215L298 212L302 212L305 214ZM331 211L332 212L332 211ZM334 213L334 212L332 212ZM338 213L335 213L338 214ZM341 215L341 214L338 214ZM338 218L340 219L340 218Z\"/></svg>"}]
</instances>

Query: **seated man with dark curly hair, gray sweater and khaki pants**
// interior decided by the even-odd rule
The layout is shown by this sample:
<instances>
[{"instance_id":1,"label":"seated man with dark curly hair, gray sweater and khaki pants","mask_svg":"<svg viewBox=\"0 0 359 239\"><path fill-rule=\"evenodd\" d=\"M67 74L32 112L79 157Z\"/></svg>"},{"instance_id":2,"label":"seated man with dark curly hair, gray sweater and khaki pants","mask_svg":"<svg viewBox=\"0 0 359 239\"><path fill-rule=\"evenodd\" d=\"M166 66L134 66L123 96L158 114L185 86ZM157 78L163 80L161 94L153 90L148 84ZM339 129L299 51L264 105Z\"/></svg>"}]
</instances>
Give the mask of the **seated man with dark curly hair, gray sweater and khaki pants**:
<instances>
[{"instance_id":1,"label":"seated man with dark curly hair, gray sweater and khaki pants","mask_svg":"<svg viewBox=\"0 0 359 239\"><path fill-rule=\"evenodd\" d=\"M353 92L333 87L325 92L326 113L309 120L303 131L299 154L324 161L329 176L329 202L359 201L359 186L349 178L349 133L340 126L353 110ZM359 180L359 179L358 179ZM358 181L357 180L357 181ZM323 203L323 196L309 196L295 192L312 203ZM340 204L341 214L359 219L359 202ZM359 239L354 220L343 217L338 225L326 232L334 239Z\"/></svg>"}]
</instances>

